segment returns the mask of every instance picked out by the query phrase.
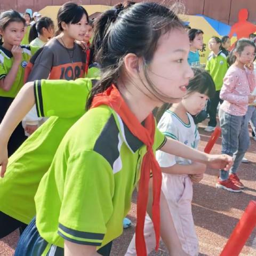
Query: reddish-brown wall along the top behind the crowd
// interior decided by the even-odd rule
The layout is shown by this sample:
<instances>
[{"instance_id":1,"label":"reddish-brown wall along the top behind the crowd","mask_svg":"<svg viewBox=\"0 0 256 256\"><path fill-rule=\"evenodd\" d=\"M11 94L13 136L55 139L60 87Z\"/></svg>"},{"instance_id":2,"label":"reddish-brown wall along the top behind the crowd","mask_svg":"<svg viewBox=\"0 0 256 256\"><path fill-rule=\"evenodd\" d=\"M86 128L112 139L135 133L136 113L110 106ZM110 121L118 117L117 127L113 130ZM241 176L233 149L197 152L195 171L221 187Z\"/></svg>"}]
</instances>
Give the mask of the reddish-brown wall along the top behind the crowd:
<instances>
[{"instance_id":1,"label":"reddish-brown wall along the top behind the crowd","mask_svg":"<svg viewBox=\"0 0 256 256\"><path fill-rule=\"evenodd\" d=\"M136 0L135 0L136 1ZM156 0L157 1L157 0ZM204 14L210 18L233 25L240 9L249 10L249 21L256 21L255 0L177 0L186 6L187 14ZM62 5L67 0L0 0L0 11L15 9L24 12L27 8L39 11L47 5ZM115 5L120 0L78 0L78 4ZM139 2L137 0L136 2ZM162 0L159 0L162 2Z\"/></svg>"}]
</instances>

